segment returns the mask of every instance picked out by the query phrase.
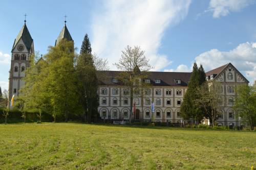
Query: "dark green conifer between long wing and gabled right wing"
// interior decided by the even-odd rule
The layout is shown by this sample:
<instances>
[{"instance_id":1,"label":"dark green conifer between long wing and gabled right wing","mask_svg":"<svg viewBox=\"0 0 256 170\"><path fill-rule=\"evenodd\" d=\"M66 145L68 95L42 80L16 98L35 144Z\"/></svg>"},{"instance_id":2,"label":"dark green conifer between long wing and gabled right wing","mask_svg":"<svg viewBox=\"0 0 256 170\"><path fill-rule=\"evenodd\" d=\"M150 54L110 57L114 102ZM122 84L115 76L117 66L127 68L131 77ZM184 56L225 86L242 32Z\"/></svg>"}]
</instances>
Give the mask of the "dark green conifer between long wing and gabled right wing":
<instances>
[{"instance_id":1,"label":"dark green conifer between long wing and gabled right wing","mask_svg":"<svg viewBox=\"0 0 256 170\"><path fill-rule=\"evenodd\" d=\"M196 101L199 99L197 88L205 82L205 72L202 65L198 68L197 63L194 63L193 72L189 79L188 88L184 95L183 102L181 104L181 116L184 119L194 118L197 124L204 117L201 108L196 106Z\"/></svg>"}]
</instances>

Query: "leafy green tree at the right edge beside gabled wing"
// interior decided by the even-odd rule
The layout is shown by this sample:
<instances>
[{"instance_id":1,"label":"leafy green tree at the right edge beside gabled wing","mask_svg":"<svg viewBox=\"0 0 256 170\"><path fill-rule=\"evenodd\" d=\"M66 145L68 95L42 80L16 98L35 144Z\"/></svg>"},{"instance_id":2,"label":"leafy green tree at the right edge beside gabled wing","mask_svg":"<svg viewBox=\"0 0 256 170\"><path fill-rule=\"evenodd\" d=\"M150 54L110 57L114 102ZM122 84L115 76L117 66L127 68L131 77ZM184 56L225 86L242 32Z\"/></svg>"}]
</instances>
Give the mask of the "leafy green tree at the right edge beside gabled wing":
<instances>
[{"instance_id":1,"label":"leafy green tree at the right edge beside gabled wing","mask_svg":"<svg viewBox=\"0 0 256 170\"><path fill-rule=\"evenodd\" d=\"M243 122L253 130L256 125L256 88L240 85L236 88L236 102L233 109L242 117Z\"/></svg>"}]
</instances>

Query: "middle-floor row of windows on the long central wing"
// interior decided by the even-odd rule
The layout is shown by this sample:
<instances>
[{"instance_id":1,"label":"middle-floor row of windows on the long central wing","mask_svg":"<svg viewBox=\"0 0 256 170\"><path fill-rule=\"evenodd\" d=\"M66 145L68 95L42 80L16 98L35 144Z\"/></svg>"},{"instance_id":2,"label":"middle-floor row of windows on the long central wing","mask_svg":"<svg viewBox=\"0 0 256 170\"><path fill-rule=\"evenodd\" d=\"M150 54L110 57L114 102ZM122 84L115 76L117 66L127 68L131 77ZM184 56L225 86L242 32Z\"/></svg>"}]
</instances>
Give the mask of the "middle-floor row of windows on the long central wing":
<instances>
[{"instance_id":1,"label":"middle-floor row of windows on the long central wing","mask_svg":"<svg viewBox=\"0 0 256 170\"><path fill-rule=\"evenodd\" d=\"M136 98L134 100L136 105L140 104L140 100L138 98ZM113 105L117 105L118 104L118 100L117 98L113 98L112 100ZM102 98L102 105L106 105L106 98ZM128 105L128 98L123 99L123 105ZM151 100L149 98L145 99L145 105L149 106L151 105ZM156 99L156 105L159 106L161 105L161 99ZM166 105L172 105L172 101L170 99L166 100ZM177 99L177 105L181 105L181 100Z\"/></svg>"}]
</instances>

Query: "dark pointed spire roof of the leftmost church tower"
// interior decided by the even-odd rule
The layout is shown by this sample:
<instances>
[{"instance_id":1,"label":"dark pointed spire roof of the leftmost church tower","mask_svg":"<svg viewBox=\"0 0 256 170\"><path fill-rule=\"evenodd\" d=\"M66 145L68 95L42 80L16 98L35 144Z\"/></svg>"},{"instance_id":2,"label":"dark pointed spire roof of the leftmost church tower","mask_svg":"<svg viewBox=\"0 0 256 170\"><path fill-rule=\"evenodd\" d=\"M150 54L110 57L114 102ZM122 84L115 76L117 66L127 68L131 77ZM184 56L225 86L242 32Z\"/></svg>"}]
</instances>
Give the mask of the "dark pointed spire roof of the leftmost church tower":
<instances>
[{"instance_id":1,"label":"dark pointed spire roof of the leftmost church tower","mask_svg":"<svg viewBox=\"0 0 256 170\"><path fill-rule=\"evenodd\" d=\"M12 46L12 50L14 49L14 47L16 46L16 44L18 43L18 41L22 39L23 42L25 43L25 46L27 48L28 51L30 51L31 45L33 43L33 39L29 33L29 30L27 28L26 23L24 24L24 26L22 27L22 29L19 31L16 39L14 40L13 46Z\"/></svg>"}]
</instances>

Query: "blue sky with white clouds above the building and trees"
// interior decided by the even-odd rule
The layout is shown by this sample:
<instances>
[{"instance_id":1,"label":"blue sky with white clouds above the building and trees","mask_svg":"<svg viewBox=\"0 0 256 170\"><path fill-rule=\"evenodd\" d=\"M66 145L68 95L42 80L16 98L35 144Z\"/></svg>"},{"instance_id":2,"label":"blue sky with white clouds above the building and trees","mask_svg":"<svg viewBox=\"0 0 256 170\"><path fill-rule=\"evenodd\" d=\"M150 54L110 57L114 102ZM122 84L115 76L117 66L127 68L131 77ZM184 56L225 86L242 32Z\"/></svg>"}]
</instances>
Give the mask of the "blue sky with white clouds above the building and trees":
<instances>
[{"instance_id":1,"label":"blue sky with white clouds above the building and trees","mask_svg":"<svg viewBox=\"0 0 256 170\"><path fill-rule=\"evenodd\" d=\"M39 54L46 54L64 25L81 46L113 63L127 45L138 45L155 71L205 71L231 62L256 80L256 0L8 1L0 3L0 86L8 89L11 49L24 25Z\"/></svg>"}]
</instances>

